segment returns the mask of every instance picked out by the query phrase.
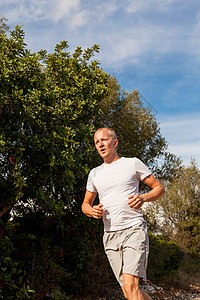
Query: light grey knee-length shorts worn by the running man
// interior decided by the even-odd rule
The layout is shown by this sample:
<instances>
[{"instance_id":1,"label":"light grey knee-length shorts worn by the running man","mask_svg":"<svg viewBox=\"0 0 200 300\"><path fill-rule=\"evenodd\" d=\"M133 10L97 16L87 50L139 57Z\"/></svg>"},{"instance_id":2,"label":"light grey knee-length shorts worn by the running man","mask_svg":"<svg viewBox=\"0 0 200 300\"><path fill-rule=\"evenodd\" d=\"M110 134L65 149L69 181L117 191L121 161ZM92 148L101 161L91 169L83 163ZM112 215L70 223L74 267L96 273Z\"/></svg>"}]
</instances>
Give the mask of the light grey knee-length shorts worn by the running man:
<instances>
[{"instance_id":1,"label":"light grey knee-length shorts worn by the running man","mask_svg":"<svg viewBox=\"0 0 200 300\"><path fill-rule=\"evenodd\" d=\"M146 280L149 239L146 223L127 229L105 232L104 249L119 284L123 286L123 273Z\"/></svg>"}]
</instances>

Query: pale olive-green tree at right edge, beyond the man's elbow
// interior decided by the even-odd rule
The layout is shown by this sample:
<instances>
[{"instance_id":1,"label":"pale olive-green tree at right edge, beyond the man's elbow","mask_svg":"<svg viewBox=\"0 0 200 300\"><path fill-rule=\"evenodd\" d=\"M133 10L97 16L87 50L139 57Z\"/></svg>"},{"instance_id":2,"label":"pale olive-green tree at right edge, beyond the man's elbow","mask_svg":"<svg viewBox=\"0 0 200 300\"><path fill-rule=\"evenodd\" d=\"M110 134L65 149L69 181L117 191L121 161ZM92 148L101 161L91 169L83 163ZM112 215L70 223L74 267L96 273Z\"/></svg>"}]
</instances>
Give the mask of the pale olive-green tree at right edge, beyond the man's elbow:
<instances>
[{"instance_id":1,"label":"pale olive-green tree at right edge, beyond the man's elbow","mask_svg":"<svg viewBox=\"0 0 200 300\"><path fill-rule=\"evenodd\" d=\"M194 160L179 170L166 186L166 194L147 208L164 237L187 251L200 252L200 170ZM156 222L157 219L157 222ZM155 225L155 224L154 224Z\"/></svg>"}]
</instances>

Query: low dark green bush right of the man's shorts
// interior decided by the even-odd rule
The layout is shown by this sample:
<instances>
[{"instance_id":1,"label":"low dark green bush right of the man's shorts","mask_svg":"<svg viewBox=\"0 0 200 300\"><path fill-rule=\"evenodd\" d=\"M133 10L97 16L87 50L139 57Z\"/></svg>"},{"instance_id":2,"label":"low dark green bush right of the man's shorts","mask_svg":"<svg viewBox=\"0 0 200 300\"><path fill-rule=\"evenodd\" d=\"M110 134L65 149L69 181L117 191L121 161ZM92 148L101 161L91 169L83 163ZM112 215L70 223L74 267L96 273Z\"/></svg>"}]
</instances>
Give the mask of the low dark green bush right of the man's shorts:
<instances>
[{"instance_id":1,"label":"low dark green bush right of the man's shorts","mask_svg":"<svg viewBox=\"0 0 200 300\"><path fill-rule=\"evenodd\" d=\"M183 251L176 243L149 234L148 278L155 284L187 289L197 283L200 256Z\"/></svg>"}]
</instances>

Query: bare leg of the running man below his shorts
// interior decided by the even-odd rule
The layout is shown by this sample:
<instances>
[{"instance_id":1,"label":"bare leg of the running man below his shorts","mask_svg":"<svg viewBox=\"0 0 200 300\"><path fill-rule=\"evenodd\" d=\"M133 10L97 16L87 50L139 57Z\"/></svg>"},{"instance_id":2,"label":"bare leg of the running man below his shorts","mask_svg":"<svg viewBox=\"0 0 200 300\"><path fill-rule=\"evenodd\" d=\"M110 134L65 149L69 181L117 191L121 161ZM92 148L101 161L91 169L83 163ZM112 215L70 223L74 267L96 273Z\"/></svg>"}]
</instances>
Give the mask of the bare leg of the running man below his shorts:
<instances>
[{"instance_id":1,"label":"bare leg of the running man below his shorts","mask_svg":"<svg viewBox=\"0 0 200 300\"><path fill-rule=\"evenodd\" d=\"M144 291L139 289L139 277L123 273L123 286L122 290L124 296L128 300L151 300Z\"/></svg>"}]
</instances>

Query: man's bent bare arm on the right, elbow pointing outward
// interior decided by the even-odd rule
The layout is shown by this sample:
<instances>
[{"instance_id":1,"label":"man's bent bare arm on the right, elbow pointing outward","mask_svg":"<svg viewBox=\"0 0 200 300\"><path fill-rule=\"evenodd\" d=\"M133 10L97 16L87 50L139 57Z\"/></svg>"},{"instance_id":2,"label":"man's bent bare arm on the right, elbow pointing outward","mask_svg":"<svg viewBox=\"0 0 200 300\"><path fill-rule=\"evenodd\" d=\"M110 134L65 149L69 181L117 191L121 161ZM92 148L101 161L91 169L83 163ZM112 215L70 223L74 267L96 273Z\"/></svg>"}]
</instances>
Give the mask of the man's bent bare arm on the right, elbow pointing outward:
<instances>
[{"instance_id":1,"label":"man's bent bare arm on the right, elbow pointing outward","mask_svg":"<svg viewBox=\"0 0 200 300\"><path fill-rule=\"evenodd\" d=\"M131 199L128 202L129 206L135 209L139 209L144 202L150 202L159 199L165 193L163 186L153 175L147 176L142 181L151 188L151 191L143 195L132 195L128 198Z\"/></svg>"}]
</instances>

